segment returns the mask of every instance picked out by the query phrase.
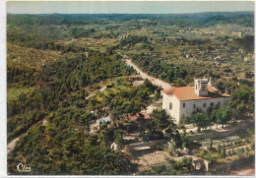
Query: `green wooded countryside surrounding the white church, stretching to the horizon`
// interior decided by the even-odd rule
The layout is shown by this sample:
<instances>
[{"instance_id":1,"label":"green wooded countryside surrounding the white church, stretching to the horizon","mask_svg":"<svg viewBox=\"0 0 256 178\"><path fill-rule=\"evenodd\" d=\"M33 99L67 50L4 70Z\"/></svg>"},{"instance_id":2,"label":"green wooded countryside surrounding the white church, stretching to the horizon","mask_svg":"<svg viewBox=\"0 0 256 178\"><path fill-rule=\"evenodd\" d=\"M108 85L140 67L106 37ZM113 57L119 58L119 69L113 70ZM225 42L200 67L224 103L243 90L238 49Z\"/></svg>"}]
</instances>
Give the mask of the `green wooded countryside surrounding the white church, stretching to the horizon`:
<instances>
[{"instance_id":1,"label":"green wooded countryside surrounding the white church, stretching to the horizon","mask_svg":"<svg viewBox=\"0 0 256 178\"><path fill-rule=\"evenodd\" d=\"M175 87L212 77L231 99L224 108L195 113L192 124L199 130L235 124L254 114L253 22L250 12L8 15L7 139L20 139L8 154L8 172L24 174L16 167L22 161L32 166L26 175L192 174L192 159L186 157L167 158L166 165L144 171L132 163L127 143L159 140L170 143L166 152L172 156L194 153L215 165L237 155L250 162L251 130L226 144L219 141L217 148L217 141L211 146L190 141L186 128L180 132L182 126L164 110L155 109L146 119L141 111L160 99L160 88L148 80L133 87L129 76L136 72L122 58L127 55ZM108 116L109 123L99 122Z\"/></svg>"}]
</instances>

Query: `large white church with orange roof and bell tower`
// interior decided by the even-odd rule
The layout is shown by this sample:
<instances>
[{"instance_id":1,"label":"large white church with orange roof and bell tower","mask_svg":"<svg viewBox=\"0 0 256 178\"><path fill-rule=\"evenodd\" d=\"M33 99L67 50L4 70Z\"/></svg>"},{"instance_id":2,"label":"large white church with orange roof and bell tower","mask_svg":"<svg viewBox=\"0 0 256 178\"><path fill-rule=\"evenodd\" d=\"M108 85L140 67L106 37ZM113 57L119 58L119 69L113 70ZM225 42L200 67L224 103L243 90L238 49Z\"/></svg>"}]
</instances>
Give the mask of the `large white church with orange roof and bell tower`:
<instances>
[{"instance_id":1,"label":"large white church with orange roof and bell tower","mask_svg":"<svg viewBox=\"0 0 256 178\"><path fill-rule=\"evenodd\" d=\"M196 79L194 87L171 88L162 91L162 109L165 109L176 123L182 117L191 117L197 109L207 112L209 107L224 106L228 95L217 93L211 79Z\"/></svg>"}]
</instances>

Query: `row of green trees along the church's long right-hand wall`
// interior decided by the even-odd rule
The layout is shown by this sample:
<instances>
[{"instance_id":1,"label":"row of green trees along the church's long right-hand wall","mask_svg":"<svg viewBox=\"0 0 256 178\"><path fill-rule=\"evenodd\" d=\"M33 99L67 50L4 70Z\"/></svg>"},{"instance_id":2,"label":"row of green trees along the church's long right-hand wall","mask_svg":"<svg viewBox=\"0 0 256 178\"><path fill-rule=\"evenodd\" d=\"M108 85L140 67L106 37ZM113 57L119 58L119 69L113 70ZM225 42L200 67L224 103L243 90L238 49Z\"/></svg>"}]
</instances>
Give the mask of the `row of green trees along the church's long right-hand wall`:
<instances>
[{"instance_id":1,"label":"row of green trees along the church's long right-hand wall","mask_svg":"<svg viewBox=\"0 0 256 178\"><path fill-rule=\"evenodd\" d=\"M222 124L224 128L228 121L246 120L253 113L254 89L243 85L232 91L231 98L224 107L210 107L207 114L199 110L193 115L191 122L201 132L201 128L206 129L213 123Z\"/></svg>"}]
</instances>

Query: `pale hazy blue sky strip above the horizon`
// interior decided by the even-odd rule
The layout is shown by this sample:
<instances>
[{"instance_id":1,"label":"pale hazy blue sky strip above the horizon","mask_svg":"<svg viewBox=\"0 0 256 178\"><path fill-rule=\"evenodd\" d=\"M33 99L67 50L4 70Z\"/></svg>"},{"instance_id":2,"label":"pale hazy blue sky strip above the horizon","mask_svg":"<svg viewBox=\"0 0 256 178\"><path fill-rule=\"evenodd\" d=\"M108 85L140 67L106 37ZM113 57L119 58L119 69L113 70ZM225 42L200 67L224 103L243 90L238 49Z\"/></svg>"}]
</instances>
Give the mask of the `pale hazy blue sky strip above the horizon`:
<instances>
[{"instance_id":1,"label":"pale hazy blue sky strip above the horizon","mask_svg":"<svg viewBox=\"0 0 256 178\"><path fill-rule=\"evenodd\" d=\"M7 2L7 13L15 14L179 14L254 11L252 1L39 1Z\"/></svg>"}]
</instances>

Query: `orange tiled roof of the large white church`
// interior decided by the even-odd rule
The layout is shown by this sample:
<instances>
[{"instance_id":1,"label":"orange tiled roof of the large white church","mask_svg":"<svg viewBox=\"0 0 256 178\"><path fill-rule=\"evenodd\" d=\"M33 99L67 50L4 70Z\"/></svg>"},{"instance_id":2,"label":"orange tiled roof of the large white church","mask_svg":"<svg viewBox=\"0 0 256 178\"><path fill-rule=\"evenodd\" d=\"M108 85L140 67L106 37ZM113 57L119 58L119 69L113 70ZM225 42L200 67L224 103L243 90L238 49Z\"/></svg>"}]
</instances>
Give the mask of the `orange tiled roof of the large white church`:
<instances>
[{"instance_id":1,"label":"orange tiled roof of the large white church","mask_svg":"<svg viewBox=\"0 0 256 178\"><path fill-rule=\"evenodd\" d=\"M173 94L175 95L178 100L197 100L197 99L210 99L210 98L217 98L217 97L226 97L227 95L222 95L219 93L216 93L217 89L215 89L212 86L208 85L208 95L206 96L199 96L195 92L194 87L181 87L181 88L171 88L171 89L165 89L163 92L165 94Z\"/></svg>"}]
</instances>

